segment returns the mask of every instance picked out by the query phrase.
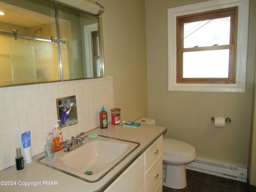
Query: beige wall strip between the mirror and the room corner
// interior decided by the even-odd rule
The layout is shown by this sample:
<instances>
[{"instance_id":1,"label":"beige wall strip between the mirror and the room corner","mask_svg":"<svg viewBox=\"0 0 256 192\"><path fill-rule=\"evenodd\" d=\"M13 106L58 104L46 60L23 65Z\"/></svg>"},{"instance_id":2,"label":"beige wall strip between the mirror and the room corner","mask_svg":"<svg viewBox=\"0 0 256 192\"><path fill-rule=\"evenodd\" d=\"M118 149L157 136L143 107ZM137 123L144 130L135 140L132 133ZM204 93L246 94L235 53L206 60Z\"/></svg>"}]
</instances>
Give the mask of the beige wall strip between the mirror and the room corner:
<instances>
[{"instance_id":1,"label":"beige wall strip between the mirror and the room corner","mask_svg":"<svg viewBox=\"0 0 256 192\"><path fill-rule=\"evenodd\" d=\"M147 66L144 0L98 0L102 14L105 72L113 76L114 106L121 117L147 116Z\"/></svg>"}]
</instances>

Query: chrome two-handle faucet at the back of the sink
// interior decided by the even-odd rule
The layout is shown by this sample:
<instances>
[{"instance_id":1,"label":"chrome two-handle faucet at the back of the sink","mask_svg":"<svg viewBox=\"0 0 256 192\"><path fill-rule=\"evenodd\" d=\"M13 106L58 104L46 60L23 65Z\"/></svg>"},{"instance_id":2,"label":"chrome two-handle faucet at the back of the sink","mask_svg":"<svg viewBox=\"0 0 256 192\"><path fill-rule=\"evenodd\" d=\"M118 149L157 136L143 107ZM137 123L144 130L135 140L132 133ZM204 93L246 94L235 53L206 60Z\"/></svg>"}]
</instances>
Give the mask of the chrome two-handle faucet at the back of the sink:
<instances>
[{"instance_id":1,"label":"chrome two-handle faucet at the back of the sink","mask_svg":"<svg viewBox=\"0 0 256 192\"><path fill-rule=\"evenodd\" d=\"M70 152L80 146L82 146L82 144L85 143L85 140L84 138L80 137L84 135L84 132L81 132L80 134L78 134L76 137L72 136L71 137L71 141L69 143L68 140L64 141L64 142L60 142L58 143L58 146L62 145L62 144L65 144L64 145L64 152Z\"/></svg>"}]
</instances>

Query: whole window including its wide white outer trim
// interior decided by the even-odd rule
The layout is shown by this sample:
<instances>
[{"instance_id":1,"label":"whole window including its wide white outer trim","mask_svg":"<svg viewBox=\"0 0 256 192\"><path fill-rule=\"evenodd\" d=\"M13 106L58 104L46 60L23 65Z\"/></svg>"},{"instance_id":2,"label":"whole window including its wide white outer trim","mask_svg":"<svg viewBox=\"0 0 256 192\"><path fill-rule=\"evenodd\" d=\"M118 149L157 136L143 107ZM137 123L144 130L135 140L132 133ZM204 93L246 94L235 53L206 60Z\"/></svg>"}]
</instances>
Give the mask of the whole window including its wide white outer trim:
<instances>
[{"instance_id":1,"label":"whole window including its wide white outer trim","mask_svg":"<svg viewBox=\"0 0 256 192\"><path fill-rule=\"evenodd\" d=\"M249 0L168 9L168 90L244 92Z\"/></svg>"}]
</instances>

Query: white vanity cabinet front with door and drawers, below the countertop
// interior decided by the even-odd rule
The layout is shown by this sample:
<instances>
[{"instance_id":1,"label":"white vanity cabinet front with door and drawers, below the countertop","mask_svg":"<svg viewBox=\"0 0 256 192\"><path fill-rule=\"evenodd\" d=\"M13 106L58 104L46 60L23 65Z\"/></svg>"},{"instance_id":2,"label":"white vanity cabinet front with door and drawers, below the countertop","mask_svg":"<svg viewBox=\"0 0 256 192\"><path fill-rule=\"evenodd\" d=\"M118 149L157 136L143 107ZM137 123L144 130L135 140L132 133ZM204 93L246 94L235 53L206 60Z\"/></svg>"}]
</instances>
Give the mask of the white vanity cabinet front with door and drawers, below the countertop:
<instances>
[{"instance_id":1,"label":"white vanity cabinet front with door and drawers, below the countertop","mask_svg":"<svg viewBox=\"0 0 256 192\"><path fill-rule=\"evenodd\" d=\"M105 192L162 192L162 147L160 136Z\"/></svg>"}]
</instances>

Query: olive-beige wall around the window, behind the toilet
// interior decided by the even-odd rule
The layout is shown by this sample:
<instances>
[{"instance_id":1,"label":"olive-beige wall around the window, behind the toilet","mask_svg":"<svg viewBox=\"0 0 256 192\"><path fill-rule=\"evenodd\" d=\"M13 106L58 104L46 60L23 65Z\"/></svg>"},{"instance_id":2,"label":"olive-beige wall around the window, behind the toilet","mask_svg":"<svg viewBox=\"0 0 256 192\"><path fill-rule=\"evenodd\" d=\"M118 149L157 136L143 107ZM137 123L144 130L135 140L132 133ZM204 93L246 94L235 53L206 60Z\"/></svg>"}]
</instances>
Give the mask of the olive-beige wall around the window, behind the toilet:
<instances>
[{"instance_id":1,"label":"olive-beige wall around the window, behind the toilet","mask_svg":"<svg viewBox=\"0 0 256 192\"><path fill-rule=\"evenodd\" d=\"M168 91L167 9L202 1L146 0L148 116L168 126L165 137L193 145L198 157L247 166L255 31L249 32L248 52L253 54L248 54L245 93ZM250 27L255 19L250 18ZM215 128L212 116L232 122Z\"/></svg>"}]
</instances>

